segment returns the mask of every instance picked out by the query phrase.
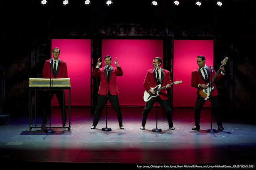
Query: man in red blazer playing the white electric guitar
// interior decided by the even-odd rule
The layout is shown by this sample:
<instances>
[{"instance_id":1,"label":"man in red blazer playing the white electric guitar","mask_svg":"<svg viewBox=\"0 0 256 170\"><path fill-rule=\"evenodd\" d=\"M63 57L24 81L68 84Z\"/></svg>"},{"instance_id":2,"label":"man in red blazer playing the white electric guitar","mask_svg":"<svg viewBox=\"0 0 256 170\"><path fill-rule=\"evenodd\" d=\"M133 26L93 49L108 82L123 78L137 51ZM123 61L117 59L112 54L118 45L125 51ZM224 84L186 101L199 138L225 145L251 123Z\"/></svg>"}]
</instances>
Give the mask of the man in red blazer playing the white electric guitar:
<instances>
[{"instance_id":1,"label":"man in red blazer playing the white electric guitar","mask_svg":"<svg viewBox=\"0 0 256 170\"><path fill-rule=\"evenodd\" d=\"M160 57L155 57L153 60L153 68L147 71L143 86L148 91L148 93L155 94L154 90L151 88L156 87L158 84L162 86L166 86L171 83L170 72L166 69L161 68L162 59ZM156 71L157 70L157 71ZM170 86L167 86L170 88ZM166 89L162 89L159 92L159 96L156 98L150 99L150 101L146 102L145 108L142 113L142 124L141 130L145 130L145 124L148 117L148 113L151 111L155 102L159 102L163 111L166 113L167 120L169 123L169 129L174 130L173 121L172 121L172 112L169 106L169 102L167 101L167 91Z\"/></svg>"}]
</instances>

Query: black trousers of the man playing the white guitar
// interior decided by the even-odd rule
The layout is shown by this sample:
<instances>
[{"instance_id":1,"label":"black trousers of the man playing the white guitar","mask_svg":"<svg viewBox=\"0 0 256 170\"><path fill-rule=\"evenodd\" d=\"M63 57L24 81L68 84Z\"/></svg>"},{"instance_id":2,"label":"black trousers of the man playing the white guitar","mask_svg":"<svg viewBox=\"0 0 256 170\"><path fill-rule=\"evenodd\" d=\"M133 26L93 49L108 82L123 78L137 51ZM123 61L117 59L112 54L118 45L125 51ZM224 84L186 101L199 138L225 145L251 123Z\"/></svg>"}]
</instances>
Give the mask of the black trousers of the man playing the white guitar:
<instances>
[{"instance_id":1,"label":"black trousers of the man playing the white guitar","mask_svg":"<svg viewBox=\"0 0 256 170\"><path fill-rule=\"evenodd\" d=\"M152 110L152 107L154 106L155 102L158 102L161 105L163 112L165 112L167 121L169 123L169 127L173 127L173 120L172 120L173 113L170 109L169 102L167 100L162 100L159 96L156 97L155 99L151 99L150 101L146 102L145 108L142 113L142 125L145 126L148 113Z\"/></svg>"}]
</instances>

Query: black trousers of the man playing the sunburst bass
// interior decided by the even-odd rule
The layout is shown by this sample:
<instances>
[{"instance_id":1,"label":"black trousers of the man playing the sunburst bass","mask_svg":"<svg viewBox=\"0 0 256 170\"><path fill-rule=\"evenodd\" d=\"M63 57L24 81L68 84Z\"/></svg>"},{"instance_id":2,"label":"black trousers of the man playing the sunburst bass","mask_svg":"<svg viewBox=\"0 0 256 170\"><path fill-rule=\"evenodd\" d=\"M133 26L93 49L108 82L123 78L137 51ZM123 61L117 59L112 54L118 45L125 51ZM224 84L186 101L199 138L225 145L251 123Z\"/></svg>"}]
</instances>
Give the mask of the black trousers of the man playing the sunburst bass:
<instances>
[{"instance_id":1,"label":"black trousers of the man playing the sunburst bass","mask_svg":"<svg viewBox=\"0 0 256 170\"><path fill-rule=\"evenodd\" d=\"M218 96L214 96L214 97L210 96L209 101L211 101L211 104L213 106L213 113L216 115L217 125L221 126L222 125L221 111L220 111L221 105L219 104L219 97ZM200 124L200 112L201 112L205 102L206 102L206 100L197 98L196 107L195 107L195 125Z\"/></svg>"}]
</instances>

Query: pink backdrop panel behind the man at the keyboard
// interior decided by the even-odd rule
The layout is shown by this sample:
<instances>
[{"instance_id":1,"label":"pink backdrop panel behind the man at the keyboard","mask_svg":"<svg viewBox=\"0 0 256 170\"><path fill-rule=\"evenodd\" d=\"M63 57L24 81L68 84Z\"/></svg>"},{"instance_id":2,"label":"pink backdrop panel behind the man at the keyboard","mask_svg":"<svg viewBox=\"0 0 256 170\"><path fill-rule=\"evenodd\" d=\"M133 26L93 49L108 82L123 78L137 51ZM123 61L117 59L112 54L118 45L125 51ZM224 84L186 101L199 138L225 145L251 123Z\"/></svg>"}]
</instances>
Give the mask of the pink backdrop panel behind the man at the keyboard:
<instances>
[{"instance_id":1,"label":"pink backdrop panel behind the man at the keyboard","mask_svg":"<svg viewBox=\"0 0 256 170\"><path fill-rule=\"evenodd\" d=\"M52 49L60 49L59 58L67 62L71 84L71 106L90 106L91 100L91 40L52 39ZM53 58L53 55L51 55ZM69 91L65 90L66 105ZM54 95L53 106L59 106Z\"/></svg>"}]
</instances>

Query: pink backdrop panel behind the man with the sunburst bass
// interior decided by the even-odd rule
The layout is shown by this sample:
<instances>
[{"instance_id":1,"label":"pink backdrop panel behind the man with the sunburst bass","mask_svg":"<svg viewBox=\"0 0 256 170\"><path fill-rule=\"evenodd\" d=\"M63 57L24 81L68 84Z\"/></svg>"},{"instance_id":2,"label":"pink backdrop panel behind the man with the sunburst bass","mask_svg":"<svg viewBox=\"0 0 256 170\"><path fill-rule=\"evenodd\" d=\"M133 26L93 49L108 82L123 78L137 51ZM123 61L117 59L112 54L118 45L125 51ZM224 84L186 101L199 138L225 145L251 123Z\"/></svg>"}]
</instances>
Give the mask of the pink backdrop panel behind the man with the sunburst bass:
<instances>
[{"instance_id":1,"label":"pink backdrop panel behind the man with the sunburst bass","mask_svg":"<svg viewBox=\"0 0 256 170\"><path fill-rule=\"evenodd\" d=\"M198 68L198 55L213 66L213 40L174 40L173 79L183 82L173 86L173 107L195 107L197 88L191 86L191 73ZM210 106L206 101L204 107Z\"/></svg>"}]
</instances>

